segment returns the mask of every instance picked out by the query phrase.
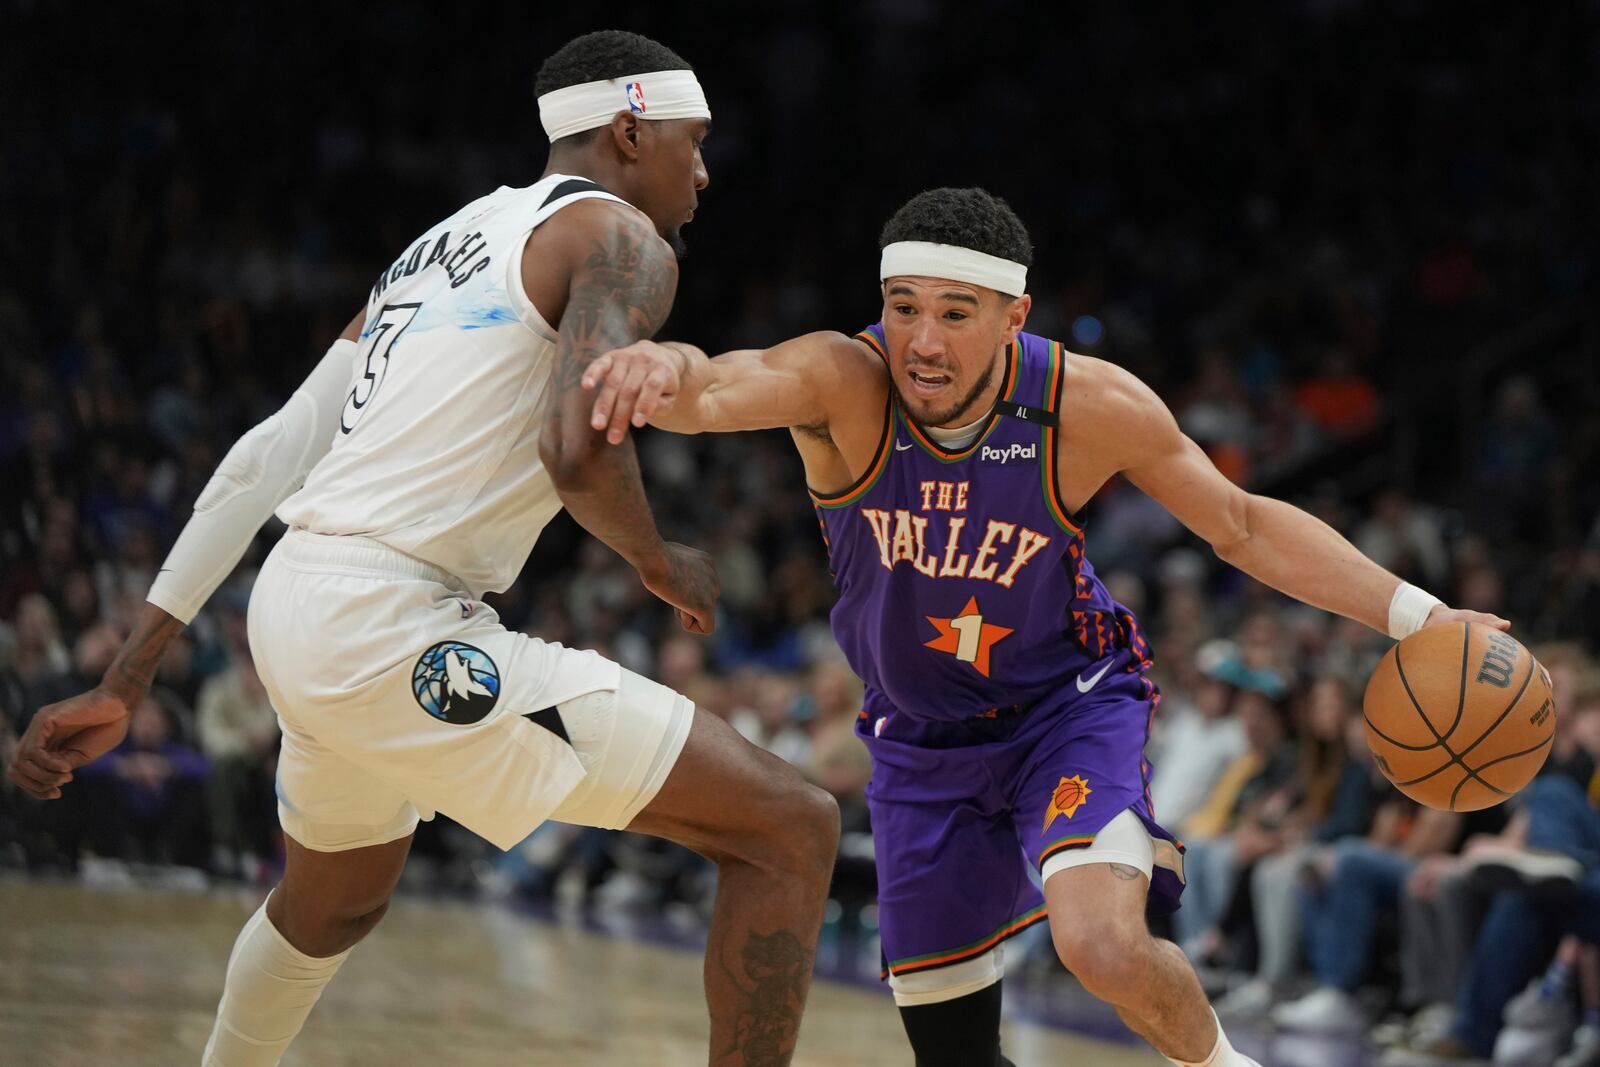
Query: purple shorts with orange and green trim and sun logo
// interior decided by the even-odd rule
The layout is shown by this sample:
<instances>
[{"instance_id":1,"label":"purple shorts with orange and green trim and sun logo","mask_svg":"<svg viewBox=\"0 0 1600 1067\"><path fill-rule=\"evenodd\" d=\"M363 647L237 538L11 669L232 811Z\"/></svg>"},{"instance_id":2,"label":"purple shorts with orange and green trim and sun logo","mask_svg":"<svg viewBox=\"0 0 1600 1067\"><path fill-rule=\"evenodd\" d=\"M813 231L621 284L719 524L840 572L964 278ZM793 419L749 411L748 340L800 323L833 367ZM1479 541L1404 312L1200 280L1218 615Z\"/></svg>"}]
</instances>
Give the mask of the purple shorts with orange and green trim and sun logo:
<instances>
[{"instance_id":1,"label":"purple shorts with orange and green trim and sun logo","mask_svg":"<svg viewBox=\"0 0 1600 1067\"><path fill-rule=\"evenodd\" d=\"M1160 696L1126 653L1098 685L963 721L906 715L867 691L856 729L872 753L872 838L886 971L978 957L1043 921L1043 862L1086 848L1131 809L1157 838L1144 742ZM1029 865L1034 870L1029 870ZM1157 865L1152 913L1182 883Z\"/></svg>"}]
</instances>

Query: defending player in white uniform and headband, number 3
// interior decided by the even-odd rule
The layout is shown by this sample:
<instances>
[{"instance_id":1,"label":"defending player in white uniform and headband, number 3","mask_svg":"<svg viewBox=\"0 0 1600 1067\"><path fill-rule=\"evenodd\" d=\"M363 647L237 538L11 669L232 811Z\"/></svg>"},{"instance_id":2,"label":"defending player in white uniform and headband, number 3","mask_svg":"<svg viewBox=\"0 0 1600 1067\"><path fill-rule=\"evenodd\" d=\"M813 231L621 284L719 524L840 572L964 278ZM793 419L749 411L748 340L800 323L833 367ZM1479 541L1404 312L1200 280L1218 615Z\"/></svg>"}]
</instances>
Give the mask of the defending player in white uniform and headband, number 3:
<instances>
[{"instance_id":1,"label":"defending player in white uniform and headband, number 3","mask_svg":"<svg viewBox=\"0 0 1600 1067\"><path fill-rule=\"evenodd\" d=\"M250 643L278 710L283 881L240 933L205 1067L267 1067L382 917L418 819L501 848L546 819L629 827L718 864L714 1064L787 1064L838 835L830 797L690 701L595 653L506 630L506 589L565 507L690 630L717 592L667 544L632 443L589 427L584 368L659 328L669 242L707 184L688 64L579 37L538 78L544 178L432 227L294 397L195 502L104 681L43 709L11 777L61 795L123 737L162 653L274 510Z\"/></svg>"}]
</instances>

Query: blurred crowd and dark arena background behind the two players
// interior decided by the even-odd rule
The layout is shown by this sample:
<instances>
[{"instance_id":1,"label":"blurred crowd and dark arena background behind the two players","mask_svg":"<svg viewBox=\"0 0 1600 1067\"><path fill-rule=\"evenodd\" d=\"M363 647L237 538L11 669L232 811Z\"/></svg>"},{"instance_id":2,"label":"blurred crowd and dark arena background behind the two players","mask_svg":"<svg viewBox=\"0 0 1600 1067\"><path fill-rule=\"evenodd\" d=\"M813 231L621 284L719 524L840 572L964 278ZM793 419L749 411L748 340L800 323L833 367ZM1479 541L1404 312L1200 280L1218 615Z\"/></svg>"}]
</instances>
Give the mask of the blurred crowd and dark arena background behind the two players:
<instances>
[{"instance_id":1,"label":"blurred crowd and dark arena background behind the two players","mask_svg":"<svg viewBox=\"0 0 1600 1067\"><path fill-rule=\"evenodd\" d=\"M613 5L608 22L698 66L715 112L664 336L722 350L858 330L878 317L875 234L899 202L941 184L1008 197L1037 245L1030 330L1139 373L1242 485L1510 617L1557 685L1536 785L1578 829L1538 853L1570 862L1538 867L1517 856L1554 816L1419 811L1373 769L1360 689L1386 638L1254 584L1109 485L1088 549L1154 638L1155 803L1189 843L1173 934L1221 1008L1336 1030L1387 1016L1402 1057L1522 1033L1526 1062L1552 1062L1587 1008L1578 1046L1597 1059L1563 1062L1600 1062L1592 950L1557 952L1562 931L1514 915L1531 883L1600 909L1595 5L1453 5L1448 34L1427 5L1362 0L1203 22L1074 8L1061 34L994 8L955 38L934 0L739 6L731 38L717 5L670 21ZM234 3L94 8L101 32L70 32L88 11L0 3L0 760L35 709L94 685L216 461L395 250L538 176L533 70L594 29L398 0L315 26ZM174 18L176 38L214 46L178 54ZM870 933L859 683L829 637L800 464L781 434L645 432L640 451L667 536L717 558L717 633L677 632L565 518L494 605L835 792L830 921ZM0 869L272 878L277 726L243 613L280 533L173 648L117 753L58 803L0 784ZM499 856L438 821L411 870L618 907L694 910L709 891L686 853L565 827ZM1549 963L1526 992L1474 955L1514 920Z\"/></svg>"}]
</instances>

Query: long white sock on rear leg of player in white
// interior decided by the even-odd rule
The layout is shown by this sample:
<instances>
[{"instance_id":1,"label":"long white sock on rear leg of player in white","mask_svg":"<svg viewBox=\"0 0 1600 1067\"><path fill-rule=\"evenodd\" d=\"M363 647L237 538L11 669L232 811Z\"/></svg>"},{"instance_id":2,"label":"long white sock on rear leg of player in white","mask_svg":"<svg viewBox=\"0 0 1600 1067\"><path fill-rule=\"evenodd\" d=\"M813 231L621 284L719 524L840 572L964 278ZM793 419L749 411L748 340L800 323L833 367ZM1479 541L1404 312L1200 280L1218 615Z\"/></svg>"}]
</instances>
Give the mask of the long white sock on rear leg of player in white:
<instances>
[{"instance_id":1,"label":"long white sock on rear leg of player in white","mask_svg":"<svg viewBox=\"0 0 1600 1067\"><path fill-rule=\"evenodd\" d=\"M283 939L262 902L227 958L222 1003L200 1067L275 1067L347 955L306 955Z\"/></svg>"}]
</instances>

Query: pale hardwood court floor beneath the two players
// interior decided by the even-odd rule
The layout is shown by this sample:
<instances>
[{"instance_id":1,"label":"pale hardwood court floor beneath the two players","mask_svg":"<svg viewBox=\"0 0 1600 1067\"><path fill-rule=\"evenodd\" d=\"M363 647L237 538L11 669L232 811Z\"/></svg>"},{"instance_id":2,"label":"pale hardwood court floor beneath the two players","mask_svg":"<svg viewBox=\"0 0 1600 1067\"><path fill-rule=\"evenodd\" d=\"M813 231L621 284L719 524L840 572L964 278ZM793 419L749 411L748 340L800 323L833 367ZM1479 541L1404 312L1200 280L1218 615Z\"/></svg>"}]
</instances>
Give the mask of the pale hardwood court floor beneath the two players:
<instances>
[{"instance_id":1,"label":"pale hardwood court floor beneath the two players","mask_svg":"<svg viewBox=\"0 0 1600 1067\"><path fill-rule=\"evenodd\" d=\"M240 925L259 904L0 880L0 1064L192 1067ZM696 953L400 899L328 987L285 1067L694 1067ZM1024 1067L1154 1067L1147 1049L1008 1022ZM797 1067L909 1064L883 990L818 982Z\"/></svg>"}]
</instances>

